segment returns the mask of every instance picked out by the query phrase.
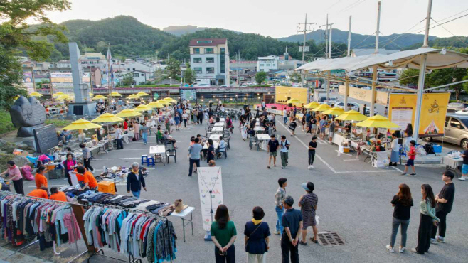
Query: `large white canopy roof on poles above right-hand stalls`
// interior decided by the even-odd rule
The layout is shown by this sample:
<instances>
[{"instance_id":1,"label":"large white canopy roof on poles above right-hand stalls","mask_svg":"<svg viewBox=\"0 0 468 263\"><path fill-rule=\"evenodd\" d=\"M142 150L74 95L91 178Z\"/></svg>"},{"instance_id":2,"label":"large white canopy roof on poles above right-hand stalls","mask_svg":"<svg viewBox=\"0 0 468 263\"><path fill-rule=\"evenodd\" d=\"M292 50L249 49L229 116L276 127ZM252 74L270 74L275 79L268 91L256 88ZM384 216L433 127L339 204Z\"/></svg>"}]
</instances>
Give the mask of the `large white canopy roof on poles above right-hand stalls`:
<instances>
[{"instance_id":1,"label":"large white canopy roof on poles above right-hand stalls","mask_svg":"<svg viewBox=\"0 0 468 263\"><path fill-rule=\"evenodd\" d=\"M468 68L468 54L458 53L451 50L435 48L418 48L415 50L405 50L390 55L374 53L371 55L361 55L358 57L334 58L331 60L316 60L297 70L345 70L352 73L356 70L369 68L377 65L378 68L420 68L421 56L427 54L426 68L429 70L439 68Z\"/></svg>"}]
</instances>

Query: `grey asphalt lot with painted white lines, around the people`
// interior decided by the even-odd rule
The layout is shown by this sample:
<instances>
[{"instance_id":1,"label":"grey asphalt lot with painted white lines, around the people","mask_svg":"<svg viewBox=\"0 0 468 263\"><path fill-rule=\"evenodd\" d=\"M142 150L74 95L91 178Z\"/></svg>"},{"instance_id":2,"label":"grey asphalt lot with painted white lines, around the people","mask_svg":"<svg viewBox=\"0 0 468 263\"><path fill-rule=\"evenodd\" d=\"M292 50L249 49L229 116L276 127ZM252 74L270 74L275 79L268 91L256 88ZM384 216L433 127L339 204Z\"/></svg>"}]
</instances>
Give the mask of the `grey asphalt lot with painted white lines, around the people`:
<instances>
[{"instance_id":1,"label":"grey asphalt lot with painted white lines, around the people","mask_svg":"<svg viewBox=\"0 0 468 263\"><path fill-rule=\"evenodd\" d=\"M445 168L440 165L417 166L418 176L400 176L397 168L377 169L370 163L364 163L363 158L356 160L356 156L338 154L337 146L319 141L314 170L307 170L307 148L310 136L306 136L297 128L297 136L289 136L286 127L277 121L277 134L286 134L292 146L289 154L289 166L282 170L278 166L267 169L266 151L250 151L248 142L240 139L238 129L235 129L231 139L231 149L228 159L217 161L223 171L223 192L225 205L230 210L231 220L235 222L238 230L238 239L235 242L238 262L246 262L243 249L243 227L251 219L251 210L255 205L265 209L265 222L270 229L274 229L276 213L274 210L274 195L277 189L277 179L288 178L287 194L292 195L296 203L299 196L304 193L301 183L312 181L315 184L315 193L319 196L317 215L320 217L319 231L331 230L339 232L346 240L346 245L338 247L323 247L311 244L299 247L301 262L466 262L467 254L467 227L468 208L464 202L467 200L468 183L455 181L457 194L455 195L452 213L448 215L447 243L432 245L430 253L424 256L405 252L404 254L390 254L385 245L390 241L391 220L393 208L390 200L398 192L400 183L407 183L413 192L415 203L418 204L422 183L430 183L435 193L442 188L440 176ZM235 122L237 127L238 122ZM187 205L194 206L193 213L194 233L186 230L187 239L183 242L182 227L178 218L172 219L179 237L178 252L175 262L214 262L213 243L203 241L203 227L201 225L200 200L198 198L197 177L188 177L187 151L190 136L204 132L205 125L191 126L174 132L174 138L179 141L177 163L171 160L166 166L156 165L147 177L148 192L142 192L142 198L164 200L173 202L182 198ZM155 138L149 138L154 144ZM102 166L129 166L133 161L139 161L142 154L148 154L149 145L142 142L132 142L124 145L124 150L112 151L110 154L96 156L97 161L92 166L100 172ZM202 164L203 166L206 163ZM62 179L50 181L50 185L63 185ZM33 183L26 185L26 191L33 189ZM125 193L124 186L118 186L119 193ZM415 247L419 224L418 205L411 211L411 222L408 228L408 249ZM309 230L312 232L312 230ZM310 235L310 234L309 234ZM398 235L396 245L399 245ZM281 262L280 238L273 235L270 239L270 252L267 262ZM1 244L0 244L1 245ZM84 248L80 245L80 249ZM67 262L69 258L51 257L51 249L38 252L35 257L43 261ZM75 246L66 250L68 254L75 253ZM14 249L11 249L12 251ZM108 249L107 249L108 250ZM107 251L106 250L106 251ZM83 251L83 250L82 250ZM29 249L28 249L29 252ZM2 253L4 254L4 253ZM15 257L0 257L9 262L18 261L21 253ZM65 252L64 252L65 254ZM119 257L122 257L120 255ZM124 257L122 257L123 259ZM23 258L24 259L24 258ZM20 259L21 260L21 259ZM102 257L93 257L91 262L105 261ZM145 262L146 260L143 259Z\"/></svg>"}]
</instances>

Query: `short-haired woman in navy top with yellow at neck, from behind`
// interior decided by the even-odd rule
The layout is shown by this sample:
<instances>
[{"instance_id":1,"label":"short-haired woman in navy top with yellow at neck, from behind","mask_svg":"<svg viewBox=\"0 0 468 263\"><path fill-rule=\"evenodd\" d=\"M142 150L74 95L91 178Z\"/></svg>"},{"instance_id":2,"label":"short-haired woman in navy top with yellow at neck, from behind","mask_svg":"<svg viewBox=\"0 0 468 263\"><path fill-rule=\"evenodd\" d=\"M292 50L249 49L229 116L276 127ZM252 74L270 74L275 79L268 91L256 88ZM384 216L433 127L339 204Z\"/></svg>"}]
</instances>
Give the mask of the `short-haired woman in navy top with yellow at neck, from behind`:
<instances>
[{"instance_id":1,"label":"short-haired woman in navy top with yellow at neck, from behind","mask_svg":"<svg viewBox=\"0 0 468 263\"><path fill-rule=\"evenodd\" d=\"M245 223L244 230L247 263L265 263L267 262L265 253L270 249L270 227L267 222L262 222L265 212L260 206L255 206L252 213L253 218Z\"/></svg>"}]
</instances>

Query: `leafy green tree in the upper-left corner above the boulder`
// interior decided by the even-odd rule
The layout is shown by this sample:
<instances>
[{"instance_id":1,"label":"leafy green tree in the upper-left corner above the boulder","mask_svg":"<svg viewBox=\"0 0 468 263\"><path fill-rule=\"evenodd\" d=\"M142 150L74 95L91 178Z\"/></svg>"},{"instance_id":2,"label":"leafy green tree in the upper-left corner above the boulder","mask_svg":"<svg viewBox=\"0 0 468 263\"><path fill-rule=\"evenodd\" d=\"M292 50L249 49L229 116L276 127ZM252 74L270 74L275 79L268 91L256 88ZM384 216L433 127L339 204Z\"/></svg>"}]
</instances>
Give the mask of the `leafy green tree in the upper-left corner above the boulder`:
<instances>
[{"instance_id":1,"label":"leafy green tree in the upper-left corner above the boulder","mask_svg":"<svg viewBox=\"0 0 468 263\"><path fill-rule=\"evenodd\" d=\"M54 50L53 43L67 42L65 27L52 23L46 14L70 9L68 0L11 0L0 1L0 104L9 107L21 88L21 64L15 55L26 53L33 60L46 60ZM37 21L39 26L29 26ZM55 55L58 58L58 55Z\"/></svg>"}]
</instances>

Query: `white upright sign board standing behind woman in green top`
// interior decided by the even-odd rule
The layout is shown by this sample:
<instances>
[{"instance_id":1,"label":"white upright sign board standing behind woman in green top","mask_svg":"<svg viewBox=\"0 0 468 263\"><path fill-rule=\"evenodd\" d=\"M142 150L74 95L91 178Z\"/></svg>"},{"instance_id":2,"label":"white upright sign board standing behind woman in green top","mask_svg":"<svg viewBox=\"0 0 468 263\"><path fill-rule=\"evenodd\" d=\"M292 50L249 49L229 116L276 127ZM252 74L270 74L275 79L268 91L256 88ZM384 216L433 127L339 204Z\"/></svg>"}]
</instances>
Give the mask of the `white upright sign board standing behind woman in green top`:
<instances>
[{"instance_id":1,"label":"white upright sign board standing behind woman in green top","mask_svg":"<svg viewBox=\"0 0 468 263\"><path fill-rule=\"evenodd\" d=\"M223 203L223 182L221 181L221 168L199 167L198 188L200 190L201 219L203 220L203 229L210 231L211 209L213 209L214 218L216 208L218 208L218 205ZM213 205L213 207L211 205Z\"/></svg>"}]
</instances>

